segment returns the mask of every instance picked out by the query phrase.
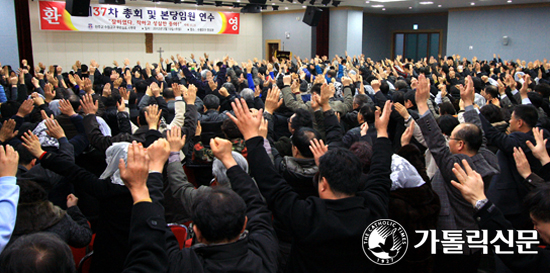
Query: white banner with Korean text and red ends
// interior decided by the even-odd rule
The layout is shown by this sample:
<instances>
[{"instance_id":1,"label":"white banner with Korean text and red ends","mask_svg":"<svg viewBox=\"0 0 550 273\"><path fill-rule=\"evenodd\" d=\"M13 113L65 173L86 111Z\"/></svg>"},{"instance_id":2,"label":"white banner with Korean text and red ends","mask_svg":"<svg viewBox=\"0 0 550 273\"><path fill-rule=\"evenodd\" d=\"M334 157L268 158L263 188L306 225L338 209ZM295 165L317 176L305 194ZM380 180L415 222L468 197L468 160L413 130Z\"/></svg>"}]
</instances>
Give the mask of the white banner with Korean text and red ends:
<instances>
[{"instance_id":1,"label":"white banner with Korean text and red ends","mask_svg":"<svg viewBox=\"0 0 550 273\"><path fill-rule=\"evenodd\" d=\"M240 14L143 6L90 5L71 16L65 2L40 1L40 29L125 33L239 34Z\"/></svg>"}]
</instances>

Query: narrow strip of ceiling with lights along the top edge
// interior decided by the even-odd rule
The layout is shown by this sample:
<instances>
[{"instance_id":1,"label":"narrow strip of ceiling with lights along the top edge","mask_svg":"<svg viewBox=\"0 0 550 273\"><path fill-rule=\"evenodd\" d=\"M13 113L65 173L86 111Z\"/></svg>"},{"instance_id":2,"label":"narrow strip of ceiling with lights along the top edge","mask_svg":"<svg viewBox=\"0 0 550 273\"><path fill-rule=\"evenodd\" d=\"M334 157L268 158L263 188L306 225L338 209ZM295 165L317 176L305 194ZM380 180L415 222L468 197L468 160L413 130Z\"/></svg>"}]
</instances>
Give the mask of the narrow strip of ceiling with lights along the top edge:
<instances>
[{"instance_id":1,"label":"narrow strip of ceiling with lights along the top edge","mask_svg":"<svg viewBox=\"0 0 550 273\"><path fill-rule=\"evenodd\" d=\"M173 0L160 0L162 2L151 2L151 0L126 0L127 4L136 3L139 5L155 5L163 7L198 7L195 4L190 4L195 0L182 0L183 4L174 4ZM157 0L159 1L159 0ZM240 3L241 6L249 3L249 0L222 0L224 6L214 7L214 0L203 0L205 5L201 8L216 8L227 11L237 11L240 8L230 7L231 3ZM300 1L304 1L300 3ZM267 0L267 9L262 12L273 11L272 6L279 6L279 11L285 10L299 10L305 9L306 6L310 6L310 1L313 0ZM323 5L323 0L314 0L314 6L316 7L334 7L332 1L329 4ZM185 3L187 2L187 3ZM342 0L338 5L339 7L358 7L363 8L364 12L378 13L378 14L414 14L414 13L433 13L433 12L447 12L452 8L472 8L482 6L513 6L518 4L532 4L532 3L550 3L550 0ZM210 4L210 5L209 5Z\"/></svg>"}]
</instances>

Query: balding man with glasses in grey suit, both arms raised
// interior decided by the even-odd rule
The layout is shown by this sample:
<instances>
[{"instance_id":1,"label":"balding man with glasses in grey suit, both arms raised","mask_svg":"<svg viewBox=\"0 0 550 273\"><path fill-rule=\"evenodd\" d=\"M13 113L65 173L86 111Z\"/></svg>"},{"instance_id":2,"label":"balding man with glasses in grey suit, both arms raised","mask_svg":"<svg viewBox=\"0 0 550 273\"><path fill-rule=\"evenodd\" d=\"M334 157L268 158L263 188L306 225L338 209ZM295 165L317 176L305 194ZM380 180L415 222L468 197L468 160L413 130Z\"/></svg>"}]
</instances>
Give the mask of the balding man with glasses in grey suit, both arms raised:
<instances>
[{"instance_id":1,"label":"balding man with glasses in grey suit, both arms raised","mask_svg":"<svg viewBox=\"0 0 550 273\"><path fill-rule=\"evenodd\" d=\"M422 130L422 135L432 153L439 170L434 175L432 186L441 199L441 211L439 213L438 230L468 230L477 229L472 215L474 208L460 195L460 192L451 185L456 180L452 168L455 163L466 160L475 170L481 174L487 182L499 173L495 155L484 147L483 131L480 121L473 107L474 86L472 78L466 79L466 87L461 90L461 98L464 101L466 123L455 127L451 133L449 146L441 133L434 116L428 107L430 87L424 75L418 78L416 89L416 104L420 118L417 124ZM438 249L441 245L438 245ZM477 272L481 258L478 249L469 249L464 245L463 255L443 255L441 250L436 258L435 272L449 272L448 270L460 270L460 272Z\"/></svg>"}]
</instances>

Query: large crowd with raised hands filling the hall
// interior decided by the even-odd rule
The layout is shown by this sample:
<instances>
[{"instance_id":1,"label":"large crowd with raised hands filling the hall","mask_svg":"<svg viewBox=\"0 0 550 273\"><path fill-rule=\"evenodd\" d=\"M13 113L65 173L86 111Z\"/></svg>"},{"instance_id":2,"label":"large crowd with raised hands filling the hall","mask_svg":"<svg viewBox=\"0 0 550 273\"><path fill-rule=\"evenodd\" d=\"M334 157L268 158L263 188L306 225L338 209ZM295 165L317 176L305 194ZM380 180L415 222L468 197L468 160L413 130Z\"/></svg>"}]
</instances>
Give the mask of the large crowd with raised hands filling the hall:
<instances>
[{"instance_id":1,"label":"large crowd with raised hands filling the hall","mask_svg":"<svg viewBox=\"0 0 550 273\"><path fill-rule=\"evenodd\" d=\"M4 66L0 271L549 272L550 62L493 57Z\"/></svg>"}]
</instances>

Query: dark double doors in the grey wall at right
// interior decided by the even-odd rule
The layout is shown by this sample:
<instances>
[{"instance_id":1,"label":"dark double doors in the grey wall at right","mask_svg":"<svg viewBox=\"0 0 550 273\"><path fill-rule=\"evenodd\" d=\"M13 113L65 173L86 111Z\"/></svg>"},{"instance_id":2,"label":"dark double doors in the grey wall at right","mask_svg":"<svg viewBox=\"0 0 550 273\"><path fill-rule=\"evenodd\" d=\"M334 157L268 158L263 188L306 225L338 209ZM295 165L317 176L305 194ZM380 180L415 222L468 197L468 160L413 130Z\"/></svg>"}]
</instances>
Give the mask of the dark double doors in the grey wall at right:
<instances>
[{"instance_id":1,"label":"dark double doors in the grey wall at right","mask_svg":"<svg viewBox=\"0 0 550 273\"><path fill-rule=\"evenodd\" d=\"M395 31L392 39L392 59L401 55L417 61L441 54L441 30Z\"/></svg>"}]
</instances>

